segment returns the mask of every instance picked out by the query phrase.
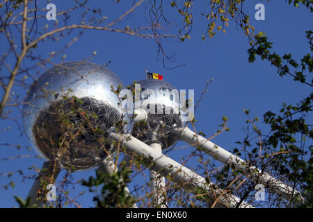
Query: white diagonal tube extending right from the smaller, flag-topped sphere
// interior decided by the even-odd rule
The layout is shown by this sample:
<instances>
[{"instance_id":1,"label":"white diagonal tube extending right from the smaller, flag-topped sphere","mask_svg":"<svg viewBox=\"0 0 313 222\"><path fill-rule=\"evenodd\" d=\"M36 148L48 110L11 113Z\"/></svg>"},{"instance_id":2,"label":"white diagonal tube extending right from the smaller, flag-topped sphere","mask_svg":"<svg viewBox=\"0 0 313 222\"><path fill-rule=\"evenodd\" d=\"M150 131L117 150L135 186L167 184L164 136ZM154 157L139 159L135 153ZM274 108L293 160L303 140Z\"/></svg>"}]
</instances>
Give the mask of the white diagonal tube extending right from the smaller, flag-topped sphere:
<instances>
[{"instance_id":1,"label":"white diagonal tube extending right from the smaller, flag-topped sphere","mask_svg":"<svg viewBox=\"0 0 313 222\"><path fill-rule=\"evenodd\" d=\"M241 171L249 171L254 180L257 180L259 183L264 184L268 189L274 194L279 194L284 198L291 199L294 196L298 195L302 199L300 193L295 189L292 189L288 185L285 185L280 180L277 180L268 173L262 172L256 167L248 166L247 162L237 157L236 155L226 151L225 149L217 146L216 144L210 142L208 139L194 133L189 128L178 128L177 133L180 134L182 140L191 144L192 146L197 146L201 151L209 154L214 159L222 162L223 164L234 164L236 169Z\"/></svg>"}]
</instances>

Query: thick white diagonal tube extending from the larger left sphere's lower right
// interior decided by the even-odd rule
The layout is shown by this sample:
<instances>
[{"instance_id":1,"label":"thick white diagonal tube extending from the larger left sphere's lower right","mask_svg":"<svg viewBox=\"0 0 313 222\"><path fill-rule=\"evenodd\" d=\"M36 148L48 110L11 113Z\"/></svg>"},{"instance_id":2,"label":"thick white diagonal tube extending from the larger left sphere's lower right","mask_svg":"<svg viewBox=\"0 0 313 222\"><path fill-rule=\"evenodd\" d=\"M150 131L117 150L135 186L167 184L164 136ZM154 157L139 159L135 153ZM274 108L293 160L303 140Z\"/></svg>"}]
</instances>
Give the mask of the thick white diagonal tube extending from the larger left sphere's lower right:
<instances>
[{"instance_id":1,"label":"thick white diagonal tube extending from the larger left sphere's lower right","mask_svg":"<svg viewBox=\"0 0 313 222\"><path fill-rule=\"evenodd\" d=\"M173 180L175 180L175 182L184 183L194 188L201 188L209 193L211 200L214 200L213 191L211 190L211 185L213 184L207 184L206 180L202 176L184 167L175 160L170 159L170 157L155 151L153 148L141 142L139 139L132 137L131 135L110 133L110 136L112 139L121 141L123 144L125 144L127 148L127 154L136 153L137 155L143 155L145 158L152 157L152 161L154 162L154 164L152 164L152 169L159 172L162 176L170 175L172 176ZM238 197L232 194L223 194L223 190L221 189L215 189L215 192L217 196L220 195L218 200L220 205L225 207L252 207L245 201L241 201Z\"/></svg>"}]
</instances>

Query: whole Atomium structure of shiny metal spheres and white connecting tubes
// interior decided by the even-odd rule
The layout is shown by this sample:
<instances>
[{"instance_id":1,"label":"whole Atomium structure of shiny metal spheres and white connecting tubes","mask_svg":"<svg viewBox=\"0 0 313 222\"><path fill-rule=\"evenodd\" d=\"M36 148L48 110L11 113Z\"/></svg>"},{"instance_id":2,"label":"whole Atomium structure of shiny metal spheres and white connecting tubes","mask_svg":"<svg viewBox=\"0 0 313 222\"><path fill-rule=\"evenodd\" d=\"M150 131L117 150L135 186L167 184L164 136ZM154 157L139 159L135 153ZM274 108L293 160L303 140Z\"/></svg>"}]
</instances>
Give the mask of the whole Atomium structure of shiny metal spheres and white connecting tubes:
<instances>
[{"instance_id":1,"label":"whole Atomium structure of shiny metal spheres and white connecting tubes","mask_svg":"<svg viewBox=\"0 0 313 222\"><path fill-rule=\"evenodd\" d=\"M130 123L123 124L130 118L121 101L125 99L121 95L123 84L106 67L93 62L65 62L47 70L33 83L22 110L23 126L31 143L37 148L36 151L48 161L29 191L28 197L31 197L32 203L42 205L45 199L45 195L38 198L45 194L41 178L45 179L46 174L56 178L60 172L59 169L52 169L53 161L49 160L57 160L61 167L71 171L99 167L99 172L114 172L115 162L107 157L115 153L115 142L125 146L122 152L152 158L150 160L154 164L150 169L150 181L157 205L166 206L162 197L166 193L166 184L161 176L172 175L175 182L185 181L191 187L200 187L211 194L211 189L203 183L205 178L166 155L160 158L161 148L168 148L179 139L192 146L197 144L197 148L200 146L202 151L223 164L247 166L244 160L184 128L186 105L182 105L184 96L175 87L155 79L145 79L138 83L141 92L138 94L135 85L135 111L138 111L135 113L138 114L138 119L134 126ZM115 92L120 92L120 95ZM131 94L129 97L127 96L133 111ZM127 134L131 128L132 135L137 139ZM125 160L129 160L129 156ZM177 169L182 173L177 173ZM243 170L260 171L255 167L244 167ZM251 176L260 179L259 173ZM267 173L262 176L261 180L268 186L271 185L275 194L294 196L294 188L284 185ZM191 181L190 178L195 180ZM125 191L131 195L127 187ZM216 191L220 192L220 196L225 193L219 188ZM222 206L252 207L232 194L224 195L219 199Z\"/></svg>"}]
</instances>

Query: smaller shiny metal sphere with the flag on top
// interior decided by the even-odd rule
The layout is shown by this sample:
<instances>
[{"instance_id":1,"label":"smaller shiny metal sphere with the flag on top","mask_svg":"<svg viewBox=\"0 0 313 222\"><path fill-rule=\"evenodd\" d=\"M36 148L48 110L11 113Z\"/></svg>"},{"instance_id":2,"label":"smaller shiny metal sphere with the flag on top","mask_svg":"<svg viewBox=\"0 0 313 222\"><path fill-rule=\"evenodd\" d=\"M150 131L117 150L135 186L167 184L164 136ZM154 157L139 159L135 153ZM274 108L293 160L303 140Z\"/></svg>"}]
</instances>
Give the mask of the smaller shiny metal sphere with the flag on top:
<instances>
[{"instance_id":1,"label":"smaller shiny metal sphere with the flag on top","mask_svg":"<svg viewBox=\"0 0 313 222\"><path fill-rule=\"evenodd\" d=\"M159 142L163 149L172 146L179 139L173 128L184 126L178 90L163 80L145 79L137 84L141 84L141 108L147 112L147 122L136 123L132 135L147 144Z\"/></svg>"}]
</instances>

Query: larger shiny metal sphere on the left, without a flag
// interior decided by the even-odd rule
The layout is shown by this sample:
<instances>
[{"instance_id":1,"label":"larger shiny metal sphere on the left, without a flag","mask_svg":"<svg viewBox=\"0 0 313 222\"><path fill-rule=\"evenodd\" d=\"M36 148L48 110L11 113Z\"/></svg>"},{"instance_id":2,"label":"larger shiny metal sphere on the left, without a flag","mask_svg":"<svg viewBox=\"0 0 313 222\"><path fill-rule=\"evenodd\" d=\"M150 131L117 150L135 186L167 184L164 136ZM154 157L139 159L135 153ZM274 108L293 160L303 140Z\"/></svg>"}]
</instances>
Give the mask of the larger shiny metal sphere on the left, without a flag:
<instances>
[{"instance_id":1,"label":"larger shiny metal sphere on the left, without a flag","mask_svg":"<svg viewBox=\"0 0 313 222\"><path fill-rule=\"evenodd\" d=\"M114 151L108 130L122 120L123 86L112 71L93 62L65 62L33 83L23 107L23 126L36 151L74 170L99 166Z\"/></svg>"}]
</instances>

